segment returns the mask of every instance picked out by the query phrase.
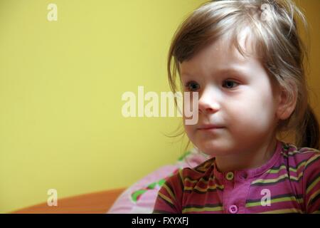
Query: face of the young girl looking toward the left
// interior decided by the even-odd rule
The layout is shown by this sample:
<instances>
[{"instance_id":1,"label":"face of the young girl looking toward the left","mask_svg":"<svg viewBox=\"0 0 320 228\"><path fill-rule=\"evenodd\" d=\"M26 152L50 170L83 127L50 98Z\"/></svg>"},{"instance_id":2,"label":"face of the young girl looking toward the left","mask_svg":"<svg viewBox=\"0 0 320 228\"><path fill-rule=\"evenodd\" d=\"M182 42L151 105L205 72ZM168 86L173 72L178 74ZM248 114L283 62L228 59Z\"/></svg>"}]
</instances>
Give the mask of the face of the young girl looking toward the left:
<instances>
[{"instance_id":1,"label":"face of the young girl looking toward the left","mask_svg":"<svg viewBox=\"0 0 320 228\"><path fill-rule=\"evenodd\" d=\"M180 65L184 91L198 92L198 123L183 123L208 155L232 155L270 140L277 124L277 86L255 57L228 42L210 44ZM192 99L191 99L192 103Z\"/></svg>"}]
</instances>

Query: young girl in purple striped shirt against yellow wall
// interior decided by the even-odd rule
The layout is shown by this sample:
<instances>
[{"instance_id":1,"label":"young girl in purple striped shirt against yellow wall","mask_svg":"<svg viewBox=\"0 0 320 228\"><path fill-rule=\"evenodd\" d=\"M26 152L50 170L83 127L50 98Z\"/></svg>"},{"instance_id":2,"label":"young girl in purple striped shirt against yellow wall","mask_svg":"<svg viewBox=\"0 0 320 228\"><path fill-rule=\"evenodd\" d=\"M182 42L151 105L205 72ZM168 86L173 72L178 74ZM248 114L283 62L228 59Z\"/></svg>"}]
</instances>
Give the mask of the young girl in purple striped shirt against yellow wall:
<instances>
[{"instance_id":1,"label":"young girl in purple striped shirt against yellow wall","mask_svg":"<svg viewBox=\"0 0 320 228\"><path fill-rule=\"evenodd\" d=\"M154 213L320 212L319 124L297 16L291 0L210 1L183 22L169 82L176 92L178 71L190 103L198 94L198 123L184 115L184 128L211 158L166 180ZM297 146L278 140L288 132Z\"/></svg>"}]
</instances>

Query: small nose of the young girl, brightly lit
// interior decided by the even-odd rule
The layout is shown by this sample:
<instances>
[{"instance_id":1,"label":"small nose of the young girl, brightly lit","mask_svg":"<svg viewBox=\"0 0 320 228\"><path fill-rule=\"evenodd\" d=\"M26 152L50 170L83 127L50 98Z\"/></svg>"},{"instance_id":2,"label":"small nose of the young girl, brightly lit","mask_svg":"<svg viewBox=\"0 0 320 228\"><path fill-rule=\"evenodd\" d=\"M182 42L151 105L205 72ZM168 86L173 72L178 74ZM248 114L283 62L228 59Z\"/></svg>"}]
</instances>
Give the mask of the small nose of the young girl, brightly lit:
<instances>
[{"instance_id":1,"label":"small nose of the young girl, brightly lit","mask_svg":"<svg viewBox=\"0 0 320 228\"><path fill-rule=\"evenodd\" d=\"M215 93L212 88L203 90L199 98L198 108L199 113L216 113L220 109L218 93Z\"/></svg>"}]
</instances>

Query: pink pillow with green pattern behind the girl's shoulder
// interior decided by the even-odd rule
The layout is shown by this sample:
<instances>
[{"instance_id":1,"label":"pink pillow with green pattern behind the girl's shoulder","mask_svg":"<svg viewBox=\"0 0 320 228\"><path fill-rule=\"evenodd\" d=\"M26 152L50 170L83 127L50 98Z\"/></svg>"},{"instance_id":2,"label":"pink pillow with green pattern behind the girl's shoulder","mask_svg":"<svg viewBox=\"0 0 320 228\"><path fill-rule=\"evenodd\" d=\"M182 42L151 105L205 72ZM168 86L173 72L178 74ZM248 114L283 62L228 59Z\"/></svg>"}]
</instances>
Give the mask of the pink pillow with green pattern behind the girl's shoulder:
<instances>
[{"instance_id":1,"label":"pink pillow with green pattern behind the girl's shoulder","mask_svg":"<svg viewBox=\"0 0 320 228\"><path fill-rule=\"evenodd\" d=\"M184 167L196 167L210 157L198 150L186 152L174 165L166 165L151 172L134 185L130 186L114 202L109 214L149 214L154 209L156 197L167 177Z\"/></svg>"}]
</instances>

